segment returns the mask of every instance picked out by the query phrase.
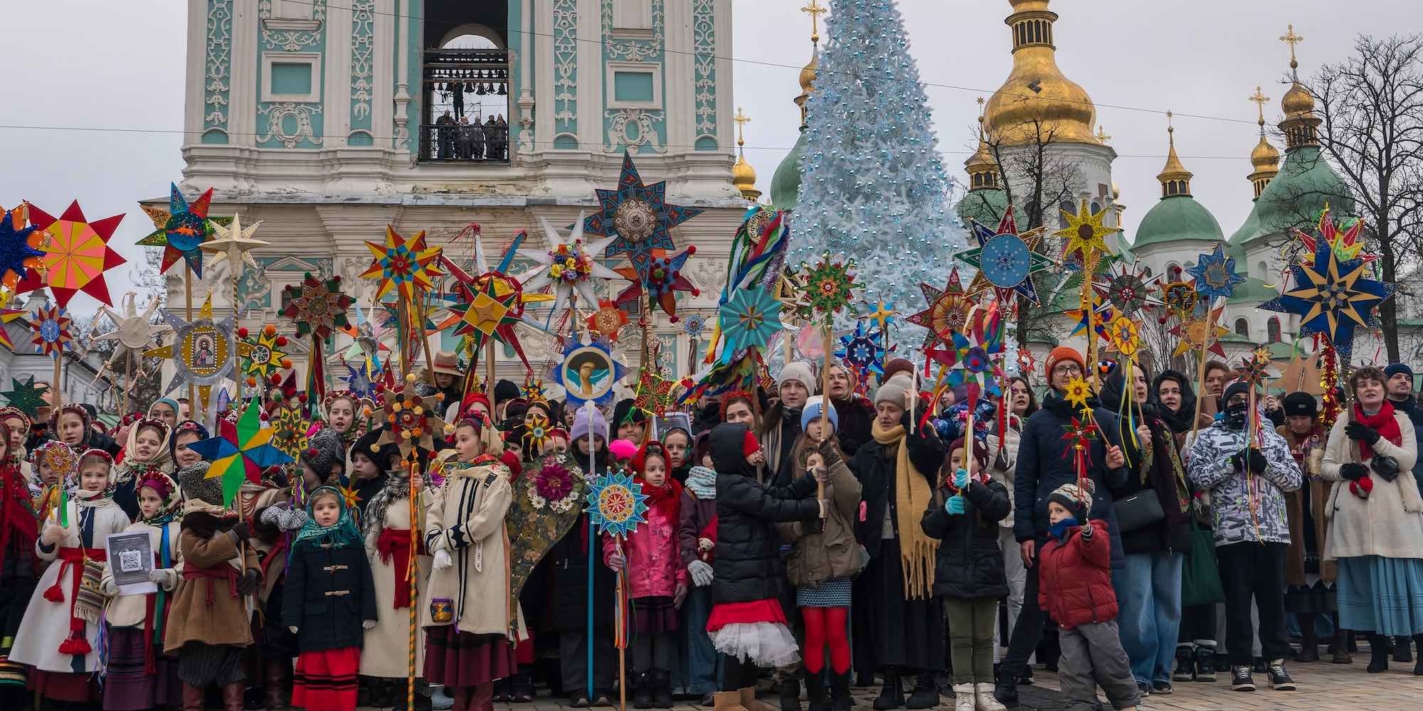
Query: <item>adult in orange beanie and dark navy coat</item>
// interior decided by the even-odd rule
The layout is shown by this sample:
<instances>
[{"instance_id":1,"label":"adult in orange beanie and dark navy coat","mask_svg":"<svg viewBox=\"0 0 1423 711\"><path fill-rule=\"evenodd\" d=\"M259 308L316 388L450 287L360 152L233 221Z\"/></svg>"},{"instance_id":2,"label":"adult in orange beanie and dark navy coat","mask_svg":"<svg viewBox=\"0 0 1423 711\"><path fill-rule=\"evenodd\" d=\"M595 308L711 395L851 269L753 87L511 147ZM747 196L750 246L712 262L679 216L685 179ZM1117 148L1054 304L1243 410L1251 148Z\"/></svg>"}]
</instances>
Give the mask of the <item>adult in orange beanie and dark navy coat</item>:
<instances>
[{"instance_id":1,"label":"adult in orange beanie and dark navy coat","mask_svg":"<svg viewBox=\"0 0 1423 711\"><path fill-rule=\"evenodd\" d=\"M1086 378L1087 368L1080 353L1059 346L1047 354L1043 364L1052 391L1043 400L1043 407L1023 424L1023 435L1017 449L1017 469L1013 479L1013 535L1022 547L1023 565L1027 566L1027 586L1023 592L1023 610L1013 626L1013 637L1007 654L999 668L995 695L1000 702L1017 707L1017 675L1027 665L1027 656L1037 647L1043 633L1042 610L1037 607L1037 555L1047 540L1047 496L1062 486L1077 481L1076 458L1063 441L1066 427L1076 418L1083 422L1081 411L1067 402L1064 392L1076 378ZM1111 567L1121 567L1121 536L1117 518L1111 509L1113 488L1126 483L1130 472L1121 452L1117 435L1117 417L1100 407L1096 397L1087 398L1087 407L1097 421L1097 435L1086 455L1087 476L1096 485L1089 518L1107 522L1111 533Z\"/></svg>"}]
</instances>

